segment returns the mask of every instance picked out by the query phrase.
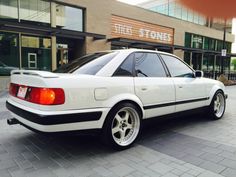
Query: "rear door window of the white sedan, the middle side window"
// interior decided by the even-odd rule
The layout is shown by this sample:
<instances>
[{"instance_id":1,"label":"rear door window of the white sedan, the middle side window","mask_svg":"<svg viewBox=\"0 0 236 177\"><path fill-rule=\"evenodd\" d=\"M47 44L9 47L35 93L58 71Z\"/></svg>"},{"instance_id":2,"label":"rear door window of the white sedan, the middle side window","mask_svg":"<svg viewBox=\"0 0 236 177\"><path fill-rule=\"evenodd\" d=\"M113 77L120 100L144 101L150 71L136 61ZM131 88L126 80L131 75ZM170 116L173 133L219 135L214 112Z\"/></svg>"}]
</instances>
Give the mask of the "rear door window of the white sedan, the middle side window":
<instances>
[{"instance_id":1,"label":"rear door window of the white sedan, the middle side window","mask_svg":"<svg viewBox=\"0 0 236 177\"><path fill-rule=\"evenodd\" d=\"M137 77L166 77L165 69L155 53L135 53Z\"/></svg>"}]
</instances>

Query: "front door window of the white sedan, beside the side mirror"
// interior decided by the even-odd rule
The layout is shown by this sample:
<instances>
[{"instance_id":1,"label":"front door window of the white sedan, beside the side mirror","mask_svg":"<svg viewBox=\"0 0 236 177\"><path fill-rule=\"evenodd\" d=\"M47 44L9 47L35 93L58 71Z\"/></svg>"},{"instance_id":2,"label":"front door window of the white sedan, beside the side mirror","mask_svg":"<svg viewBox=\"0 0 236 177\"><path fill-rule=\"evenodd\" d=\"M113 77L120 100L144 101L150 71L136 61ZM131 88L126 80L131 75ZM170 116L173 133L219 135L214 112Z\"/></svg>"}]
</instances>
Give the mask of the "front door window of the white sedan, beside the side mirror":
<instances>
[{"instance_id":1,"label":"front door window of the white sedan, beside the side mirror","mask_svg":"<svg viewBox=\"0 0 236 177\"><path fill-rule=\"evenodd\" d=\"M193 70L186 64L170 55L161 54L172 77L193 77Z\"/></svg>"}]
</instances>

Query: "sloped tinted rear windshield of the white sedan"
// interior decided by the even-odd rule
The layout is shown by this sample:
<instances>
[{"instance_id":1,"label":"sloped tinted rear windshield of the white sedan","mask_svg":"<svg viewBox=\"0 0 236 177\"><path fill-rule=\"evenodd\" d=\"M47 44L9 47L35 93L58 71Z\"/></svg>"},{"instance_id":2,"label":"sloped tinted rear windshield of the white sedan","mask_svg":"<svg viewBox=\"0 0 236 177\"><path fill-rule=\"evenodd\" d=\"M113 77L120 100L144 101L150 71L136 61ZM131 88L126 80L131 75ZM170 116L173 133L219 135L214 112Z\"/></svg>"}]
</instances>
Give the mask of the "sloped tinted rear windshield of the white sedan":
<instances>
[{"instance_id":1,"label":"sloped tinted rear windshield of the white sedan","mask_svg":"<svg viewBox=\"0 0 236 177\"><path fill-rule=\"evenodd\" d=\"M109 61L117 55L117 52L98 52L85 55L65 65L60 66L54 73L75 73L95 75Z\"/></svg>"}]
</instances>

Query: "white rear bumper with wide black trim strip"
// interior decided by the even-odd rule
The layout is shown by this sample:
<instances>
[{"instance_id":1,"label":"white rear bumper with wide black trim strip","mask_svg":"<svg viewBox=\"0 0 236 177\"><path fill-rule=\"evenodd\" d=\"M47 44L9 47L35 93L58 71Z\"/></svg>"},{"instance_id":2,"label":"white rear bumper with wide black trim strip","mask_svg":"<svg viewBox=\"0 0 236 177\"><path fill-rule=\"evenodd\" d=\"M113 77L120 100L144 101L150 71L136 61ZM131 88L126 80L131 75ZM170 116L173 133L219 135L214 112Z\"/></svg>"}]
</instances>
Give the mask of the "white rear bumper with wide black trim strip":
<instances>
[{"instance_id":1,"label":"white rear bumper with wide black trim strip","mask_svg":"<svg viewBox=\"0 0 236 177\"><path fill-rule=\"evenodd\" d=\"M20 123L41 132L60 132L101 128L108 110L88 110L68 114L37 114L6 102L7 109Z\"/></svg>"}]
</instances>

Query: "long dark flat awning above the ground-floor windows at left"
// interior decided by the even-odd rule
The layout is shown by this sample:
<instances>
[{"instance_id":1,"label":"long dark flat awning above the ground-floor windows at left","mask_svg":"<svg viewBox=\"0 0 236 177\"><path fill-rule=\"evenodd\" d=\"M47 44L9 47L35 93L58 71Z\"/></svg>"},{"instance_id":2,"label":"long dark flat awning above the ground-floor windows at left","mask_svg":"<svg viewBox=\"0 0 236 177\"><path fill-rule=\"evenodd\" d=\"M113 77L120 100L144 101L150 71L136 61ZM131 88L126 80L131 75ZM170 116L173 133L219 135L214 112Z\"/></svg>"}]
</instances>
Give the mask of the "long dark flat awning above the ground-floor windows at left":
<instances>
[{"instance_id":1,"label":"long dark flat awning above the ground-floor windows at left","mask_svg":"<svg viewBox=\"0 0 236 177\"><path fill-rule=\"evenodd\" d=\"M84 39L86 36L93 37L94 40L106 39L106 36L102 34L58 29L49 26L42 26L37 24L36 25L25 24L25 23L5 21L5 20L0 20L0 30L30 33L30 34L40 34L44 36L54 35L59 37L68 37L75 39Z\"/></svg>"}]
</instances>

